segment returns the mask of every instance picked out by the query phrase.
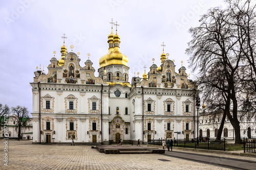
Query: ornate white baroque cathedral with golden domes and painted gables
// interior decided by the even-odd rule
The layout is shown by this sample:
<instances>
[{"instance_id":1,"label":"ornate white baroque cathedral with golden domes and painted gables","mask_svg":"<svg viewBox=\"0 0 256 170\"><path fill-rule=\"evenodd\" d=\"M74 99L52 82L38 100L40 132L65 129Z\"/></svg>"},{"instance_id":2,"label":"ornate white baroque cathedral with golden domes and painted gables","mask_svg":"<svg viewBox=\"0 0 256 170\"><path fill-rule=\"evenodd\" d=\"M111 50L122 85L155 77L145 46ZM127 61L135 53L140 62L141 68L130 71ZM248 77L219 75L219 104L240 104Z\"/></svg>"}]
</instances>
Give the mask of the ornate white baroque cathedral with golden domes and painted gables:
<instances>
[{"instance_id":1,"label":"ornate white baroque cathedral with golden domes and painted gables","mask_svg":"<svg viewBox=\"0 0 256 170\"><path fill-rule=\"evenodd\" d=\"M81 67L65 43L61 59L50 60L47 75L34 72L33 142L195 138L196 99L185 67L176 72L163 51L159 67L153 64L143 78L133 77L130 83L128 58L120 52L117 33L111 32L108 43L108 54L99 59L98 77L91 60Z\"/></svg>"}]
</instances>

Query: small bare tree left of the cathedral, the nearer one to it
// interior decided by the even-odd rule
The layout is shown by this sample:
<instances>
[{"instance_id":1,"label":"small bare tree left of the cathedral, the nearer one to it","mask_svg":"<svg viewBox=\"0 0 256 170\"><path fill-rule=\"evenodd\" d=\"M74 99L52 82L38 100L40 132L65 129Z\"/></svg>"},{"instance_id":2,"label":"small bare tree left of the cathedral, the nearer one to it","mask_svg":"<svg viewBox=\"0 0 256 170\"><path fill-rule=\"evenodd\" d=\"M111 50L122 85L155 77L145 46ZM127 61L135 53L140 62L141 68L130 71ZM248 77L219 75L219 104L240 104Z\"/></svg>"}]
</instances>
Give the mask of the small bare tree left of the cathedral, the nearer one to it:
<instances>
[{"instance_id":1,"label":"small bare tree left of the cathedral, the nearer one to it","mask_svg":"<svg viewBox=\"0 0 256 170\"><path fill-rule=\"evenodd\" d=\"M31 118L29 117L28 108L16 106L12 107L12 112L14 113L14 115L12 115L11 117L15 120L15 122L17 122L17 124L15 124L15 130L18 133L18 138L21 139L22 130L31 128Z\"/></svg>"}]
</instances>

